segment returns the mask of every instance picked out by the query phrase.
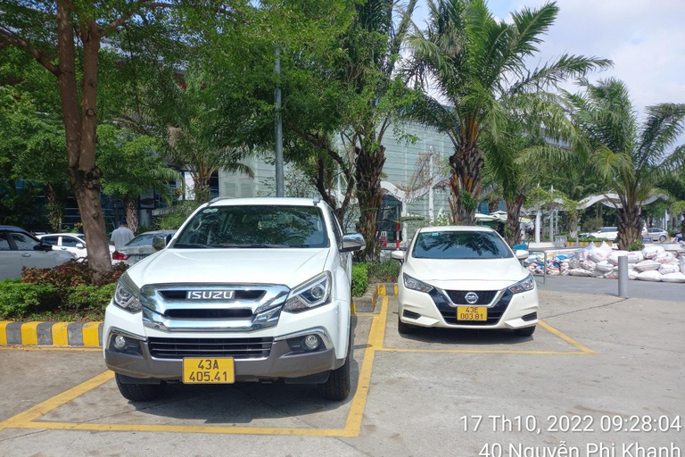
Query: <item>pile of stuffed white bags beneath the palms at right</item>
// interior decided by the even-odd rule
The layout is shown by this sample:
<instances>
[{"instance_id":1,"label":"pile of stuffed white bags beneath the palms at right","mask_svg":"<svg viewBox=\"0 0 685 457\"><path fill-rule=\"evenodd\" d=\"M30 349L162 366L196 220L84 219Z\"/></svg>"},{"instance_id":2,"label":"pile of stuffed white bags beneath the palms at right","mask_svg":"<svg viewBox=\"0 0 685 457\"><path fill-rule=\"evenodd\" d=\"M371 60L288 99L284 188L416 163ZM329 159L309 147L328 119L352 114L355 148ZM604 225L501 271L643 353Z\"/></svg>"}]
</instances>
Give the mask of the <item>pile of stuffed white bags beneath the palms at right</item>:
<instances>
[{"instance_id":1,"label":"pile of stuffed white bags beneath the palms at right","mask_svg":"<svg viewBox=\"0 0 685 457\"><path fill-rule=\"evenodd\" d=\"M642 251L612 251L606 243L599 247L592 244L572 253L567 262L567 268L557 270L551 274L568 274L594 278L618 278L618 258L628 258L628 278L643 281L664 281L685 283L685 255L678 258L673 253L667 253L660 245L648 245ZM553 262L548 262L548 269L554 268ZM541 262L535 264L541 271ZM549 270L550 272L551 270ZM548 273L549 274L549 273Z\"/></svg>"}]
</instances>

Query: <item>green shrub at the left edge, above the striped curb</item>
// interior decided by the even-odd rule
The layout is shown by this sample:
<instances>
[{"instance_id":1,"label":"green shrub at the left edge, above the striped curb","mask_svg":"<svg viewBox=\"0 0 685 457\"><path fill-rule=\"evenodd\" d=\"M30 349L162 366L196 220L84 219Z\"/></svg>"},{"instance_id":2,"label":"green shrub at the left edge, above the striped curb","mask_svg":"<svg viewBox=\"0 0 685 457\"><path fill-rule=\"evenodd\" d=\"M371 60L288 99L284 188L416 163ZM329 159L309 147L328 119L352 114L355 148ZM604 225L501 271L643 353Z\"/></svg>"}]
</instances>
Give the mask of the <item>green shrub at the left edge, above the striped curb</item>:
<instances>
[{"instance_id":1,"label":"green shrub at the left edge, above the striped curb","mask_svg":"<svg viewBox=\"0 0 685 457\"><path fill-rule=\"evenodd\" d=\"M60 293L52 284L0 281L0 319L20 320L33 312L53 311L59 305Z\"/></svg>"}]
</instances>

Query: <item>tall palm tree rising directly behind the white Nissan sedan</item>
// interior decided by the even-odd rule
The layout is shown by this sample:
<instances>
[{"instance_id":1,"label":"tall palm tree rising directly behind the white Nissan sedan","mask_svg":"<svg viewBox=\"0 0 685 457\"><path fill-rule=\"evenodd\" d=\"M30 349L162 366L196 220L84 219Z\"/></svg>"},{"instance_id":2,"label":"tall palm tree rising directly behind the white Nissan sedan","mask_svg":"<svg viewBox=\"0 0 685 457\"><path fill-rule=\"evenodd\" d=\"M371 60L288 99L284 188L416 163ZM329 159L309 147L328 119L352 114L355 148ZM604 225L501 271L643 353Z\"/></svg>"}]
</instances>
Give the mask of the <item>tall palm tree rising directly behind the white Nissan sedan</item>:
<instances>
[{"instance_id":1,"label":"tall palm tree rising directly behind the white Nissan sedan","mask_svg":"<svg viewBox=\"0 0 685 457\"><path fill-rule=\"evenodd\" d=\"M541 35L557 18L555 3L513 12L512 23L496 21L485 0L429 0L428 8L427 29L409 38L413 61L405 70L417 84L434 84L450 107L425 97L413 111L452 140L452 216L455 223L473 224L485 163L480 139L487 131L499 141L508 117L505 101L535 104L549 96L542 90L611 62L564 54L526 69L524 61L538 52Z\"/></svg>"}]
</instances>

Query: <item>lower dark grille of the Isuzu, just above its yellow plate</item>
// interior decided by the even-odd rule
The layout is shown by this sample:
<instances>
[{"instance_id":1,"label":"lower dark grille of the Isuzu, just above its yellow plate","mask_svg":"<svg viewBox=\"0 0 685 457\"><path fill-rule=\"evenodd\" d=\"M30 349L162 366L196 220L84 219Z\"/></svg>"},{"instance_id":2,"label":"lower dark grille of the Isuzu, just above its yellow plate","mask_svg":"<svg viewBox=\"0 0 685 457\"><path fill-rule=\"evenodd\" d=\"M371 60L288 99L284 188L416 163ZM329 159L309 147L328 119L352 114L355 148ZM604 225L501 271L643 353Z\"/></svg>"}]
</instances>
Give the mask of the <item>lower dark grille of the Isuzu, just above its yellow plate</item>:
<instances>
[{"instance_id":1,"label":"lower dark grille of the Isuzu, just above its yellow plate","mask_svg":"<svg viewBox=\"0 0 685 457\"><path fill-rule=\"evenodd\" d=\"M156 359L184 357L233 357L261 359L271 353L273 337L269 338L160 338L150 337L150 355Z\"/></svg>"}]
</instances>

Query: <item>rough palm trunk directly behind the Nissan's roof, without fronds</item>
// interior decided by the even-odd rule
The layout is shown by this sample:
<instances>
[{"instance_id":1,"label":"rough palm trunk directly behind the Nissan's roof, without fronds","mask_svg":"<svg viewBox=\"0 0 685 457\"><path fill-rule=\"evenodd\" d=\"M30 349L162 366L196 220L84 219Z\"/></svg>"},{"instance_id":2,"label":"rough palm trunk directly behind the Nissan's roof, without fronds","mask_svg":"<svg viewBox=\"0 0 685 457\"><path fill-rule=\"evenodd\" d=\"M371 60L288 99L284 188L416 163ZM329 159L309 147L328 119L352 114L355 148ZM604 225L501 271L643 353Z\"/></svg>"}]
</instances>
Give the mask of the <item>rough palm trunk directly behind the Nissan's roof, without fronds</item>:
<instances>
[{"instance_id":1,"label":"rough palm trunk directly behind the Nissan's roof, without fronds","mask_svg":"<svg viewBox=\"0 0 685 457\"><path fill-rule=\"evenodd\" d=\"M450 157L450 209L457 225L475 225L484 164L483 153L475 145L459 147Z\"/></svg>"}]
</instances>

